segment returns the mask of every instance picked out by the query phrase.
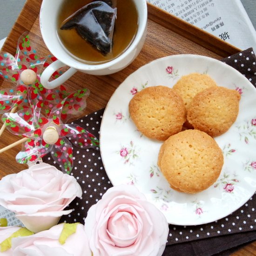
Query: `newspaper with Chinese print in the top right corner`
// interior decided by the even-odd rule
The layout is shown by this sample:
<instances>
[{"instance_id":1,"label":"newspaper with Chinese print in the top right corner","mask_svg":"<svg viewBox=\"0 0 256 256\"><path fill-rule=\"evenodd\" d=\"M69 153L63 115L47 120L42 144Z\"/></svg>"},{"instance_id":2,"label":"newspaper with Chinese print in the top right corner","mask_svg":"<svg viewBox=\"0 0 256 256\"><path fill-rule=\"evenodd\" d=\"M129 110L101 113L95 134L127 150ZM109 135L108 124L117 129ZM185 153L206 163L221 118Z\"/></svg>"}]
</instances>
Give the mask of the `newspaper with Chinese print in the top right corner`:
<instances>
[{"instance_id":1,"label":"newspaper with Chinese print in the top right corner","mask_svg":"<svg viewBox=\"0 0 256 256\"><path fill-rule=\"evenodd\" d=\"M256 31L240 0L147 1L241 50L256 50Z\"/></svg>"}]
</instances>

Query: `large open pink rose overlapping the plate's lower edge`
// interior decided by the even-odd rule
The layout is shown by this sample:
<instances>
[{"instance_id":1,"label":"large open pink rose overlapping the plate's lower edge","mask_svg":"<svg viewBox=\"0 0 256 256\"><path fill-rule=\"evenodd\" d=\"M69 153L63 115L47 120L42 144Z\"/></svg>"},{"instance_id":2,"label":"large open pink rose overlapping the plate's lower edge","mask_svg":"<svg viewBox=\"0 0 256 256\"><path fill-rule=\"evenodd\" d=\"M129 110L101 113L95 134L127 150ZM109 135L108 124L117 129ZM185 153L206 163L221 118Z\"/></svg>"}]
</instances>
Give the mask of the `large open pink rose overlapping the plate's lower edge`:
<instances>
[{"instance_id":1,"label":"large open pink rose overlapping the plate's lower edge","mask_svg":"<svg viewBox=\"0 0 256 256\"><path fill-rule=\"evenodd\" d=\"M85 232L94 256L161 256L165 216L135 186L115 186L88 210Z\"/></svg>"}]
</instances>

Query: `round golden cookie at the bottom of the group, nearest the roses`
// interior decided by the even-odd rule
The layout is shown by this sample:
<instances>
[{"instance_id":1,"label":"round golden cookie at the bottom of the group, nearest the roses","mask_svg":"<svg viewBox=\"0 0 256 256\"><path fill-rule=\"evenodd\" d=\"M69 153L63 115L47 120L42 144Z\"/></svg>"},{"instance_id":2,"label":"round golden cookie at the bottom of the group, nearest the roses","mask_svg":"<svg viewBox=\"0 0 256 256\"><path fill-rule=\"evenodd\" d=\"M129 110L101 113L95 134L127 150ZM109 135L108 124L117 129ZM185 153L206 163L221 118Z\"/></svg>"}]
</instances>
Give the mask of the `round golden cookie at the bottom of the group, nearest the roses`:
<instances>
[{"instance_id":1,"label":"round golden cookie at the bottom of the group, nearest the roses","mask_svg":"<svg viewBox=\"0 0 256 256\"><path fill-rule=\"evenodd\" d=\"M173 189L193 194L216 182L222 170L223 155L208 134L185 130L164 143L158 162Z\"/></svg>"}]
</instances>

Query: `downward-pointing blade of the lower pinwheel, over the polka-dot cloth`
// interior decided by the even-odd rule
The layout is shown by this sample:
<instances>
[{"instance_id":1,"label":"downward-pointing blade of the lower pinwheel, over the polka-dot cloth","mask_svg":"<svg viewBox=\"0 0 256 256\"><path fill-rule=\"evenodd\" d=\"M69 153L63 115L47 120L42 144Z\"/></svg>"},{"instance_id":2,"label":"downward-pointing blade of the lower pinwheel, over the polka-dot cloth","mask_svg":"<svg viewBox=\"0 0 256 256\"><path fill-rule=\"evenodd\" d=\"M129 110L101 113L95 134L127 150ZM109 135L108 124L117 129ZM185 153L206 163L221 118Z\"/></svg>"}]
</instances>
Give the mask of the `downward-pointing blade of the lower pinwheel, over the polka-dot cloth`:
<instances>
[{"instance_id":1,"label":"downward-pointing blade of the lower pinwheel, over the polka-dot cloth","mask_svg":"<svg viewBox=\"0 0 256 256\"><path fill-rule=\"evenodd\" d=\"M73 168L73 150L71 143L65 137L54 144L51 155L54 161L60 164L61 171L70 174Z\"/></svg>"}]
</instances>

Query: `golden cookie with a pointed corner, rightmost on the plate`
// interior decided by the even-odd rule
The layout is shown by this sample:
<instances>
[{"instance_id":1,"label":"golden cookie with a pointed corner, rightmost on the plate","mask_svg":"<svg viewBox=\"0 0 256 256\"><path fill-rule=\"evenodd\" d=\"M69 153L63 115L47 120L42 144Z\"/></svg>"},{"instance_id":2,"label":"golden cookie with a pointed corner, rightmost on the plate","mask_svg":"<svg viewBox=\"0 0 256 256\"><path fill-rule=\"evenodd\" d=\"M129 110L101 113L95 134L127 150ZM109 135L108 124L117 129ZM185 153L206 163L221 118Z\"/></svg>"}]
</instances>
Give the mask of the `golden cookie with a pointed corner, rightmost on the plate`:
<instances>
[{"instance_id":1,"label":"golden cookie with a pointed corner, rightmost on the plate","mask_svg":"<svg viewBox=\"0 0 256 256\"><path fill-rule=\"evenodd\" d=\"M187 119L195 129L211 136L225 133L236 121L240 94L224 87L212 87L195 95Z\"/></svg>"}]
</instances>

